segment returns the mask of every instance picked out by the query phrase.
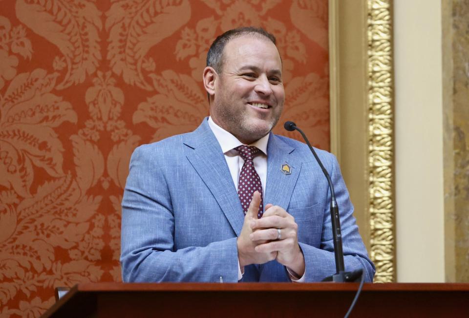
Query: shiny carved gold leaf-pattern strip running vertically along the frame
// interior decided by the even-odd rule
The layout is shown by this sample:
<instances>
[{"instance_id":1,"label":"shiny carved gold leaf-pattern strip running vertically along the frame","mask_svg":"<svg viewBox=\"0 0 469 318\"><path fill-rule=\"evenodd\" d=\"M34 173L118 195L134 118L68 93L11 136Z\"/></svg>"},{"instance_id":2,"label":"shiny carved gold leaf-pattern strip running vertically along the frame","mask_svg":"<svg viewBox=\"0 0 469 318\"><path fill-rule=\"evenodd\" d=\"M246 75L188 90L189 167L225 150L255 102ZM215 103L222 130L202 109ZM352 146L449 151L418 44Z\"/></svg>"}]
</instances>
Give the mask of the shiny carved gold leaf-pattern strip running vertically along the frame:
<instances>
[{"instance_id":1,"label":"shiny carved gold leaf-pattern strip running vertically along the frame","mask_svg":"<svg viewBox=\"0 0 469 318\"><path fill-rule=\"evenodd\" d=\"M375 282L396 280L392 0L367 1L370 256Z\"/></svg>"}]
</instances>

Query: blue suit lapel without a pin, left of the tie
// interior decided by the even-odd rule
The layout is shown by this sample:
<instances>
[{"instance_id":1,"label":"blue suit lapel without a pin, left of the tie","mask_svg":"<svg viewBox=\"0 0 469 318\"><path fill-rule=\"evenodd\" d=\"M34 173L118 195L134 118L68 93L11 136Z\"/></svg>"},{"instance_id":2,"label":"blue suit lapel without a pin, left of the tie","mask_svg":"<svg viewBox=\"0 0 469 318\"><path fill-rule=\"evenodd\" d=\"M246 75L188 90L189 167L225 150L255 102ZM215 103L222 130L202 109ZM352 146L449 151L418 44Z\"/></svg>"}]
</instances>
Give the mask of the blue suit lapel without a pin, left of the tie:
<instances>
[{"instance_id":1,"label":"blue suit lapel without a pin, left of the tie","mask_svg":"<svg viewBox=\"0 0 469 318\"><path fill-rule=\"evenodd\" d=\"M184 142L193 148L187 159L212 192L231 227L239 236L243 227L244 213L225 156L207 120L205 119L190 135L192 138Z\"/></svg>"}]
</instances>

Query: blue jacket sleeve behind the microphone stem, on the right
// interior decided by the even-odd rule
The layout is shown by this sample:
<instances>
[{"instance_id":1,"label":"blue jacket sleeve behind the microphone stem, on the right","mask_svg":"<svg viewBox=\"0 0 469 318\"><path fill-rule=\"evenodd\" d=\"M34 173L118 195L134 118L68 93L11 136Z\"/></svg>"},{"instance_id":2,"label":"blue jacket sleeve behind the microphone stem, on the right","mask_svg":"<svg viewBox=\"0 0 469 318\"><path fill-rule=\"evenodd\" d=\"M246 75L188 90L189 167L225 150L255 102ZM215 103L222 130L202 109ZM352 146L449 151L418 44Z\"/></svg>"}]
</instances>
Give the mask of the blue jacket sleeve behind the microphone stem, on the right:
<instances>
[{"instance_id":1,"label":"blue jacket sleeve behind the microphone stem, on the right","mask_svg":"<svg viewBox=\"0 0 469 318\"><path fill-rule=\"evenodd\" d=\"M350 202L339 164L335 156L330 155L329 158L332 158L332 160L329 160L332 167L329 169L329 174L334 185L339 206L345 270L352 272L362 268L365 281L371 282L375 274L375 266L368 257L362 237L358 231L358 226L353 216L353 205ZM330 202L330 199L330 191L328 191L327 202ZM320 248L304 243L299 243L299 246L303 252L306 265L304 274L306 282L320 281L336 273L329 204L325 205Z\"/></svg>"}]
</instances>

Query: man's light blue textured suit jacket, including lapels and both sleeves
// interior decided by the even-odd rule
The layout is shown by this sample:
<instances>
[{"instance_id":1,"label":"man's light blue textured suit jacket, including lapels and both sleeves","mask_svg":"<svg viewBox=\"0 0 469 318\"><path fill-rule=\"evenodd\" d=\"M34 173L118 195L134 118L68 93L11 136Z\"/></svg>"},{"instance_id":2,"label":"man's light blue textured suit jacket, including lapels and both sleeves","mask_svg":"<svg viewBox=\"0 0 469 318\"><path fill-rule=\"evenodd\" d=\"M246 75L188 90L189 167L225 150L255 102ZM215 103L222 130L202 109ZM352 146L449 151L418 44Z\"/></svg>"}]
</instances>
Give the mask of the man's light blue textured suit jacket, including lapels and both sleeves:
<instances>
[{"instance_id":1,"label":"man's light blue textured suit jacket, including lapels and both sleeves","mask_svg":"<svg viewBox=\"0 0 469 318\"><path fill-rule=\"evenodd\" d=\"M329 171L341 214L347 271L375 268L358 233L353 206L335 157L317 150ZM281 165L292 167L285 175ZM305 280L335 273L326 178L309 148L269 136L265 204L284 208L298 223ZM207 118L193 132L135 149L122 200L121 265L124 281L237 282L236 237L244 214L223 152ZM242 281L290 281L273 260L245 267Z\"/></svg>"}]
</instances>

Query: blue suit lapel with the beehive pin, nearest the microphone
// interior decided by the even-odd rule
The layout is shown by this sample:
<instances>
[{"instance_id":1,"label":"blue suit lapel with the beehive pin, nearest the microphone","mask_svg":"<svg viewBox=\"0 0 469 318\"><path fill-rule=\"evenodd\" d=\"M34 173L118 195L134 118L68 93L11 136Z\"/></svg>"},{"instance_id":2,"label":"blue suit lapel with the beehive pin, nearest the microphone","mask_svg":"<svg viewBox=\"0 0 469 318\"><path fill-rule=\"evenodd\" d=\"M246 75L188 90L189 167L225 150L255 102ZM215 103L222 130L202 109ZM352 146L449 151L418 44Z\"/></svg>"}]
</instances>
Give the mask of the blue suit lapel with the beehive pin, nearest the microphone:
<instances>
[{"instance_id":1,"label":"blue suit lapel with the beehive pin, nearest the microphone","mask_svg":"<svg viewBox=\"0 0 469 318\"><path fill-rule=\"evenodd\" d=\"M288 208L293 189L301 170L300 158L293 155L295 148L284 143L273 133L267 147L267 186L264 204L272 203L283 209ZM282 172L283 164L288 164L291 174Z\"/></svg>"}]
</instances>

